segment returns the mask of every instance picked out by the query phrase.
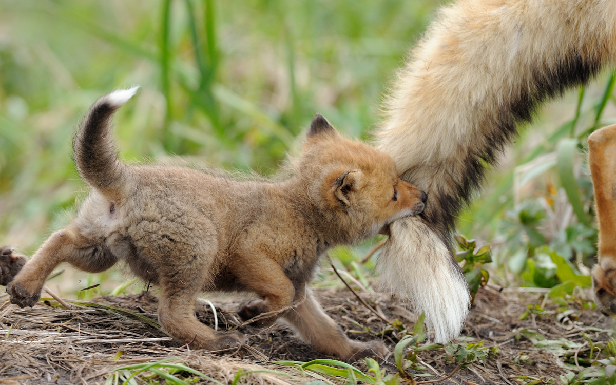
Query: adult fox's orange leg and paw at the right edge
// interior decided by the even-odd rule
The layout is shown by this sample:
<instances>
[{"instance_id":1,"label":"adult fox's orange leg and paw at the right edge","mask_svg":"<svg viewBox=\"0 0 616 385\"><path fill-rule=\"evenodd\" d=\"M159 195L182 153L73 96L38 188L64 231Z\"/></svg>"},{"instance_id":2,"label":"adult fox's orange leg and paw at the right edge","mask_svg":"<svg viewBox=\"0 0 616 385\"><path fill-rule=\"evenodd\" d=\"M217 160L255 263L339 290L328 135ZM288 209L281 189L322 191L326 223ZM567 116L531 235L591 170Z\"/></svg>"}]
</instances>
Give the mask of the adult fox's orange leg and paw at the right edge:
<instances>
[{"instance_id":1,"label":"adult fox's orange leg and paw at the right edge","mask_svg":"<svg viewBox=\"0 0 616 385\"><path fill-rule=\"evenodd\" d=\"M599 223L599 263L593 268L595 302L604 314L616 315L616 124L588 137L588 163Z\"/></svg>"}]
</instances>

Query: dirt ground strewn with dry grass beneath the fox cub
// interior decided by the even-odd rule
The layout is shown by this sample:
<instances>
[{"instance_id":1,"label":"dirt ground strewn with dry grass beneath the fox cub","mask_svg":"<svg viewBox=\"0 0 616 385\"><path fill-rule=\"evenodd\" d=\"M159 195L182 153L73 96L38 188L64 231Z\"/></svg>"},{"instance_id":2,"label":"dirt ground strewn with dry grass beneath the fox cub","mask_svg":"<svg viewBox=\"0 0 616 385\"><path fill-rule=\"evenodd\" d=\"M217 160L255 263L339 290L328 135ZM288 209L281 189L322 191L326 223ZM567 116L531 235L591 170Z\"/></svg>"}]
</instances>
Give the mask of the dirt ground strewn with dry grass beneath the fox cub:
<instances>
[{"instance_id":1,"label":"dirt ground strewn with dry grass beneath the fox cub","mask_svg":"<svg viewBox=\"0 0 616 385\"><path fill-rule=\"evenodd\" d=\"M351 338L383 339L390 351L394 351L403 332L394 330L370 312L350 291L317 291L317 296L328 314ZM360 296L377 312L390 320L399 320L407 330L412 330L417 315L398 299L385 294L363 293ZM240 324L235 309L241 298L210 299L217 310L219 329ZM283 322L265 330L241 326L239 330L249 338L248 344L238 350L191 351L160 330L156 322L157 300L152 290L71 302L79 306L73 309L65 309L55 301L41 301L26 309L10 304L6 296L0 301L3 301L0 302L0 384L113 383L110 373L115 368L168 357L177 357L178 363L221 383L232 383L240 370L246 375L241 376L239 383L345 381L271 363L331 358L323 357L300 341ZM559 309L545 301L544 296L521 289L480 290L462 341L484 341L483 347L487 347L490 355L482 362L457 371L443 383L560 384L560 375L590 365L591 342L601 347L612 333L612 320L596 309L586 309L582 302L578 298L577 303L570 301L568 306ZM529 304L540 305L540 308L533 307L535 311L521 320ZM204 302L197 315L201 322L214 327L214 314L208 304ZM596 357L595 349L594 359ZM424 370L410 370L411 375L432 375L416 377L418 380L443 378L456 367L442 348L419 352L418 364ZM367 373L365 363L354 365ZM387 373L397 372L392 353L379 360L379 365ZM263 368L288 374L254 372ZM137 383L156 381L164 383L155 375L139 378Z\"/></svg>"}]
</instances>

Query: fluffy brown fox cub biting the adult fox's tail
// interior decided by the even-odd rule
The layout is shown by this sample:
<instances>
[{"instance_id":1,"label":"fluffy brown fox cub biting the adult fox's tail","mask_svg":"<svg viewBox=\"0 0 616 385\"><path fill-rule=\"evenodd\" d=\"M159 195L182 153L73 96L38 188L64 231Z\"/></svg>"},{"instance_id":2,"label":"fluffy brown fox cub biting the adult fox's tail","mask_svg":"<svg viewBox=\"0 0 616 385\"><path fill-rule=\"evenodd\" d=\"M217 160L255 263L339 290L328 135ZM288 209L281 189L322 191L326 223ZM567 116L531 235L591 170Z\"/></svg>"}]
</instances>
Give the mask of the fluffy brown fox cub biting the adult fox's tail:
<instances>
[{"instance_id":1,"label":"fluffy brown fox cub biting the adult fox's tail","mask_svg":"<svg viewBox=\"0 0 616 385\"><path fill-rule=\"evenodd\" d=\"M328 248L421 213L426 194L400 180L389 156L343 139L318 114L287 180L238 182L187 168L125 164L109 126L135 92L101 97L79 127L75 162L92 191L76 219L20 270L23 257L2 252L10 301L33 306L60 262L101 272L124 261L137 277L160 286L161 325L193 348L243 344L243 334L214 331L193 312L201 291L239 290L259 298L240 305L243 320L261 315L255 323L267 325L283 317L317 351L346 360L384 354L380 341L348 339L306 286Z\"/></svg>"}]
</instances>

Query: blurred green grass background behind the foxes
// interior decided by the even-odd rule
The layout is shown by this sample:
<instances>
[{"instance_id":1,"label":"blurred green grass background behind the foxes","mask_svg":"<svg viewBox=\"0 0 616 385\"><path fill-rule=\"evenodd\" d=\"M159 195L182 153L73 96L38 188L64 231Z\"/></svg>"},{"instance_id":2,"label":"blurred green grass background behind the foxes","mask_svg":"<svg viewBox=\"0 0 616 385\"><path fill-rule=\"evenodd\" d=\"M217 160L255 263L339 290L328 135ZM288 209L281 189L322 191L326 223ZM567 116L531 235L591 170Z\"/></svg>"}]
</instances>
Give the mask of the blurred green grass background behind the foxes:
<instances>
[{"instance_id":1,"label":"blurred green grass background behind the foxes","mask_svg":"<svg viewBox=\"0 0 616 385\"><path fill-rule=\"evenodd\" d=\"M368 139L381 95L440 4L0 0L0 244L31 254L70 219L86 191L71 160L73 129L114 89L142 86L116 116L129 161L179 156L272 174L316 112ZM492 244L496 280L558 283L554 265L537 259L539 246L591 263L596 231L583 148L589 132L616 117L613 86L606 73L541 109L461 216L461 233ZM559 163L565 158L570 166ZM336 255L349 265L369 247ZM360 281L370 274L370 265L355 267L349 274ZM536 282L537 269L554 279ZM83 288L123 279L110 274L56 280Z\"/></svg>"}]
</instances>

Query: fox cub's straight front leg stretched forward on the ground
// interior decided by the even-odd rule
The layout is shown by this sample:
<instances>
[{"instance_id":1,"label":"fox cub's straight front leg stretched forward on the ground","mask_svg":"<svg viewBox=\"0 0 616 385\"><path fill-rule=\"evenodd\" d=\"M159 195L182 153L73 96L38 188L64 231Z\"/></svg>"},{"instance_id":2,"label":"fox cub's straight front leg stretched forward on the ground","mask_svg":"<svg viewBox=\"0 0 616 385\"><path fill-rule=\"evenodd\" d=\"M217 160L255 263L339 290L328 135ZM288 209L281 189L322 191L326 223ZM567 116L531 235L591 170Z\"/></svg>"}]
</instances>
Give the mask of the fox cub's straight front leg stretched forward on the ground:
<instances>
[{"instance_id":1,"label":"fox cub's straight front leg stretched forward on the ground","mask_svg":"<svg viewBox=\"0 0 616 385\"><path fill-rule=\"evenodd\" d=\"M349 362L387 354L387 348L381 341L360 342L347 338L342 328L325 314L312 292L305 287L298 288L296 301L299 306L287 312L284 318L317 351Z\"/></svg>"}]
</instances>

